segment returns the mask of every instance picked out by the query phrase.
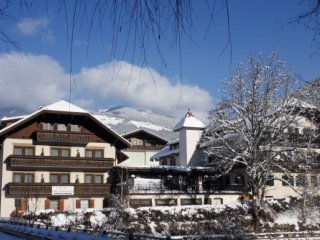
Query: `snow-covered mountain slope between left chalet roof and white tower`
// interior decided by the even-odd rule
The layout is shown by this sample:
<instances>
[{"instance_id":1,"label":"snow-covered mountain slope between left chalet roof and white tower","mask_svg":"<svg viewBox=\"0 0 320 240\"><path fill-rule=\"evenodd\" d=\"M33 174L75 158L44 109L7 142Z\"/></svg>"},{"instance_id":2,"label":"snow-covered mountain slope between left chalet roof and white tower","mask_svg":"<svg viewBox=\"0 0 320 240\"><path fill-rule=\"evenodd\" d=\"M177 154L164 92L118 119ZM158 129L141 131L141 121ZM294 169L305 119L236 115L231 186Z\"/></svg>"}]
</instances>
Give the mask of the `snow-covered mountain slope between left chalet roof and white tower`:
<instances>
[{"instance_id":1,"label":"snow-covered mountain slope between left chalet roof and white tower","mask_svg":"<svg viewBox=\"0 0 320 240\"><path fill-rule=\"evenodd\" d=\"M168 141L178 137L176 132L172 132L179 121L176 117L130 107L115 107L91 113L121 135L142 128Z\"/></svg>"}]
</instances>

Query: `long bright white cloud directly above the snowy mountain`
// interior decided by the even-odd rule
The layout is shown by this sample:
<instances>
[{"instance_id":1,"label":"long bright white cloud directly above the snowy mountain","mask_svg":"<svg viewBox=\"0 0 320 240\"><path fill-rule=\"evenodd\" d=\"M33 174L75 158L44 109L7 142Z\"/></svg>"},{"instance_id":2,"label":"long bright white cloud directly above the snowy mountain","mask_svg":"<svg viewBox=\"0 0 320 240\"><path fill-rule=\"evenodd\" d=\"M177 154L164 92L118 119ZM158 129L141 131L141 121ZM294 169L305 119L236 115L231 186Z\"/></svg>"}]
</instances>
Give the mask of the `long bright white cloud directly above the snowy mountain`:
<instances>
[{"instance_id":1,"label":"long bright white cloud directly above the snowy mountain","mask_svg":"<svg viewBox=\"0 0 320 240\"><path fill-rule=\"evenodd\" d=\"M213 103L210 94L196 85L173 82L152 68L123 61L84 68L76 79L82 96L104 102L120 99L162 113L181 115L190 108L203 116Z\"/></svg>"}]
</instances>

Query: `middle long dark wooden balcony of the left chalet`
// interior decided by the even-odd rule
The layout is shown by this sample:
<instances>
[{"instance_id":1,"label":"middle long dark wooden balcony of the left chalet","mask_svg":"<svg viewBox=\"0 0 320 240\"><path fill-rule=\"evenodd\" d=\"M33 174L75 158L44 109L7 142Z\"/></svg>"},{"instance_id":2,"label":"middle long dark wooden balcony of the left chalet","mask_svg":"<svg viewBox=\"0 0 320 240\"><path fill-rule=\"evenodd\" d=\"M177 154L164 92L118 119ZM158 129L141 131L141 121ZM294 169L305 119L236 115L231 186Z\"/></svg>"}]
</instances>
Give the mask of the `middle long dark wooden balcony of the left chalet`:
<instances>
[{"instance_id":1,"label":"middle long dark wooden balcony of the left chalet","mask_svg":"<svg viewBox=\"0 0 320 240\"><path fill-rule=\"evenodd\" d=\"M113 167L112 158L84 157L52 157L10 155L7 167L10 170L41 170L41 171L93 171L105 172Z\"/></svg>"}]
</instances>

